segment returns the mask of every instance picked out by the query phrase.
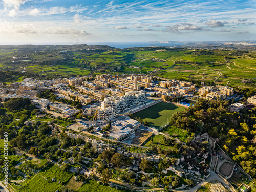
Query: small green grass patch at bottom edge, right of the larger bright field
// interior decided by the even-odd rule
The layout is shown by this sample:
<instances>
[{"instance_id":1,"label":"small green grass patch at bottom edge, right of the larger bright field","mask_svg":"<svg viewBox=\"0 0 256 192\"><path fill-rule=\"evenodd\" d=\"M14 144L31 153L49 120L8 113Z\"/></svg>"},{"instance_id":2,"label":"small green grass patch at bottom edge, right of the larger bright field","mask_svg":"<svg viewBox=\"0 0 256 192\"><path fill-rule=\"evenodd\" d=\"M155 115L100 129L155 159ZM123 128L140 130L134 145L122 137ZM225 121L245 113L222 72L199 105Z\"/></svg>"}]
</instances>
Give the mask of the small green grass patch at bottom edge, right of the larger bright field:
<instances>
[{"instance_id":1,"label":"small green grass patch at bottom edge, right of the larger bright field","mask_svg":"<svg viewBox=\"0 0 256 192\"><path fill-rule=\"evenodd\" d=\"M112 188L110 186L102 186L98 184L94 180L88 180L84 183L78 190L78 192L121 192L122 190L118 190L116 188Z\"/></svg>"}]
</instances>

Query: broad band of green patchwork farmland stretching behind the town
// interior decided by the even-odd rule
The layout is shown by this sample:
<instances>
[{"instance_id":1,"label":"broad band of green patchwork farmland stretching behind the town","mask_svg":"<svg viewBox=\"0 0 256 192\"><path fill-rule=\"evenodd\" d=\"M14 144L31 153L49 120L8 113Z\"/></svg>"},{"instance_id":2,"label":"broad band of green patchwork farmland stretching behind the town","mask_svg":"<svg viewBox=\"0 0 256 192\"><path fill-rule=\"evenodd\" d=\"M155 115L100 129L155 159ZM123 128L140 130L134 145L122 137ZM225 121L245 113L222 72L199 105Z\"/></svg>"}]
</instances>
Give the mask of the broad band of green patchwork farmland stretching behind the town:
<instances>
[{"instance_id":1,"label":"broad band of green patchwork farmland stretching behind the town","mask_svg":"<svg viewBox=\"0 0 256 192\"><path fill-rule=\"evenodd\" d=\"M6 81L74 75L151 74L160 78L254 87L256 52L167 47L117 49L88 45L1 46L2 70L22 72ZM21 61L23 60L23 61ZM24 61L25 60L25 61ZM27 61L26 61L27 60ZM242 80L250 79L248 83Z\"/></svg>"}]
</instances>

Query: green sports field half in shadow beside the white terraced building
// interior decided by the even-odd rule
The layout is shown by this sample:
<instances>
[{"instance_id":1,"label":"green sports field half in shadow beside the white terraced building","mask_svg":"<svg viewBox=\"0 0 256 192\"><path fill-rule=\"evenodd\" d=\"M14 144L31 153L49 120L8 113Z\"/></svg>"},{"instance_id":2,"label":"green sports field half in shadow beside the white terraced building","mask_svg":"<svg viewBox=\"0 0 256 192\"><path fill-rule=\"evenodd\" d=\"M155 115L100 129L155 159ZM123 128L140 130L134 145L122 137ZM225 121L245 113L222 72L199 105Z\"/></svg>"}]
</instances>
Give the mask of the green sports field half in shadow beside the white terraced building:
<instances>
[{"instance_id":1,"label":"green sports field half in shadow beside the white terraced building","mask_svg":"<svg viewBox=\"0 0 256 192\"><path fill-rule=\"evenodd\" d=\"M134 113L133 116L137 119L140 117L154 126L164 126L170 120L170 117L174 112L183 110L185 110L183 106L161 102L150 108Z\"/></svg>"}]
</instances>

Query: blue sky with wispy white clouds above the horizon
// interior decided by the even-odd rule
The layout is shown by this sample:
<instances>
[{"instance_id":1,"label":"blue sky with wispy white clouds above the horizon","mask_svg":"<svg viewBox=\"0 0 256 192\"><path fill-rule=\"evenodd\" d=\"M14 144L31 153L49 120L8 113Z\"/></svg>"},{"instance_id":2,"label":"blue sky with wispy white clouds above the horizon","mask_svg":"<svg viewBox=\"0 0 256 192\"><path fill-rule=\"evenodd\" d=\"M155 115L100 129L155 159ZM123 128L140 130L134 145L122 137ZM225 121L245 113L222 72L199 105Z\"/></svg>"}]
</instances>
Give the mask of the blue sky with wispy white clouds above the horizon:
<instances>
[{"instance_id":1,"label":"blue sky with wispy white clouds above the horizon","mask_svg":"<svg viewBox=\"0 0 256 192\"><path fill-rule=\"evenodd\" d=\"M255 37L256 0L0 0L0 45Z\"/></svg>"}]
</instances>

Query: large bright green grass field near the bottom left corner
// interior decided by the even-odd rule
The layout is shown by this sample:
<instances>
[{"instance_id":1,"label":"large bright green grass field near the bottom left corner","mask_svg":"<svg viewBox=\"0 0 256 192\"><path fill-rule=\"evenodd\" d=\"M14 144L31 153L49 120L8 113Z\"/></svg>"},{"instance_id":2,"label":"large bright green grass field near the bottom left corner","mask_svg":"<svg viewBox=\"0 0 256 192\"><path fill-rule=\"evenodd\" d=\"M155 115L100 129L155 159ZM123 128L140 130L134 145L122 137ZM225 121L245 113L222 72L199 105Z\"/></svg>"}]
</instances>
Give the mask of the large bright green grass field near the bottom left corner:
<instances>
[{"instance_id":1,"label":"large bright green grass field near the bottom left corner","mask_svg":"<svg viewBox=\"0 0 256 192\"><path fill-rule=\"evenodd\" d=\"M60 167L52 164L39 172L35 177L20 183L21 186L13 185L13 187L21 192L56 191L63 184L67 183L71 177L71 173L63 172ZM57 181L52 182L52 178L55 178ZM58 183L59 181L61 182L60 184Z\"/></svg>"}]
</instances>

